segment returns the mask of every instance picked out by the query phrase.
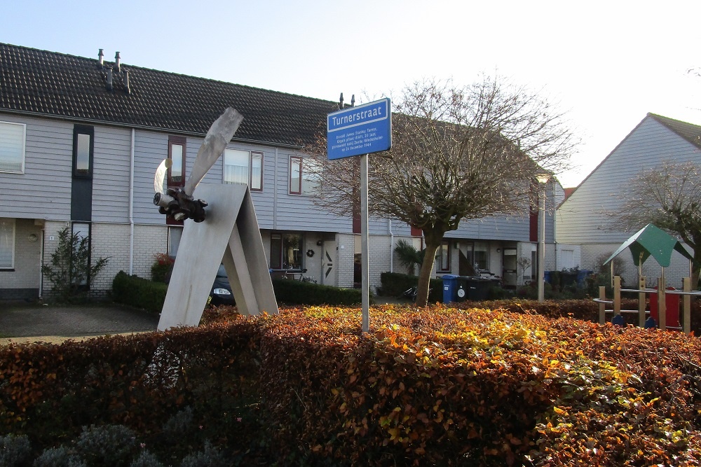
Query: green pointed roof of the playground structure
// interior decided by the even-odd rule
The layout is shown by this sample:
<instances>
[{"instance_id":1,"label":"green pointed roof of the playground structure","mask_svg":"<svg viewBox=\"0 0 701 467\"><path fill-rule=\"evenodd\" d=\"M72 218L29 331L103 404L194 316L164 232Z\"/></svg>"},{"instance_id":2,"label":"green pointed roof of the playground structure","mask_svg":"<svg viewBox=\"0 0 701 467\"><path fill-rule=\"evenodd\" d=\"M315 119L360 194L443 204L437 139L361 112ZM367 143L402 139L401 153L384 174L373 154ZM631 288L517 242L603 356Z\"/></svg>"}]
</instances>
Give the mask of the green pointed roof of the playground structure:
<instances>
[{"instance_id":1,"label":"green pointed roof of the playground structure","mask_svg":"<svg viewBox=\"0 0 701 467\"><path fill-rule=\"evenodd\" d=\"M613 252L611 257L606 260L606 263L613 260L621 251L627 248L630 249L630 253L633 256L633 263L636 266L645 263L645 260L652 256L660 266L668 267L669 263L672 261L672 251L674 250L681 253L681 255L688 258L688 260L694 260L693 256L684 249L679 240L653 224L646 225L644 228L638 230L635 235L623 242L623 244Z\"/></svg>"}]
</instances>

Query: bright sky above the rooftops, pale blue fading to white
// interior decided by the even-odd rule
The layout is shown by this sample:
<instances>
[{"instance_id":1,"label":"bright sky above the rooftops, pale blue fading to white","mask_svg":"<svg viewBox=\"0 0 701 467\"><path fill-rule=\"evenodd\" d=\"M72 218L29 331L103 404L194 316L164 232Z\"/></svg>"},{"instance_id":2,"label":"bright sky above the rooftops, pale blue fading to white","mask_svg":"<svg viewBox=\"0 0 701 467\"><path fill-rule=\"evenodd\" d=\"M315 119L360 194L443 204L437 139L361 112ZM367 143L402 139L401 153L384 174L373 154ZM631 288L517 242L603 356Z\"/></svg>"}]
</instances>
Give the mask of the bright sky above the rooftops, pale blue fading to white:
<instances>
[{"instance_id":1,"label":"bright sky above the rooftops, pale blue fading to white","mask_svg":"<svg viewBox=\"0 0 701 467\"><path fill-rule=\"evenodd\" d=\"M701 125L701 1L0 0L0 41L349 101L482 72L559 102L576 186L646 113ZM358 99L360 101L360 99Z\"/></svg>"}]
</instances>

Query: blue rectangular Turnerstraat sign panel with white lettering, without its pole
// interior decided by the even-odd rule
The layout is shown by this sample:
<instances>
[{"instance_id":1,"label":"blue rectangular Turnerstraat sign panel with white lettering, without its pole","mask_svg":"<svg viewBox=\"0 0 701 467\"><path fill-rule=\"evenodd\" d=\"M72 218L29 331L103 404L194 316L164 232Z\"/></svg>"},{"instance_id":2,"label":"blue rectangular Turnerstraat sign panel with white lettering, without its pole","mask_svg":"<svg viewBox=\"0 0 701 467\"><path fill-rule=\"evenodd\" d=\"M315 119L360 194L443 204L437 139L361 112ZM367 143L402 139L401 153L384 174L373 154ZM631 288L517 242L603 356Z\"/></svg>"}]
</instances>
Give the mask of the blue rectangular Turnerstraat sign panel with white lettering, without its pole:
<instances>
[{"instance_id":1,"label":"blue rectangular Turnerstraat sign panel with white lettering, without its pole","mask_svg":"<svg viewBox=\"0 0 701 467\"><path fill-rule=\"evenodd\" d=\"M392 146L390 99L329 113L326 141L329 160L387 151Z\"/></svg>"}]
</instances>

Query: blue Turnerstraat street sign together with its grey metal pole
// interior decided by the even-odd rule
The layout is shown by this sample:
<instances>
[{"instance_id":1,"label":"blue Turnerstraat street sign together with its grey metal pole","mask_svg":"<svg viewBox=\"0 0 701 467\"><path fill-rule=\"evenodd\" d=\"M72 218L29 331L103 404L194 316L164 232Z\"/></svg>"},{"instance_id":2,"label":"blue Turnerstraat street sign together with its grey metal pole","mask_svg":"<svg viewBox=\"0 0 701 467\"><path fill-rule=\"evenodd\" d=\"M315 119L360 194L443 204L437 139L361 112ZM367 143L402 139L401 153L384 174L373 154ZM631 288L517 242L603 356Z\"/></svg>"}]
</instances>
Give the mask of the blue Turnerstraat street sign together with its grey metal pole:
<instances>
[{"instance_id":1,"label":"blue Turnerstraat street sign together with its grey metal pole","mask_svg":"<svg viewBox=\"0 0 701 467\"><path fill-rule=\"evenodd\" d=\"M392 146L390 99L380 99L329 113L326 141L329 160L360 155L361 330L367 333L370 330L367 159L370 153L387 151Z\"/></svg>"}]
</instances>

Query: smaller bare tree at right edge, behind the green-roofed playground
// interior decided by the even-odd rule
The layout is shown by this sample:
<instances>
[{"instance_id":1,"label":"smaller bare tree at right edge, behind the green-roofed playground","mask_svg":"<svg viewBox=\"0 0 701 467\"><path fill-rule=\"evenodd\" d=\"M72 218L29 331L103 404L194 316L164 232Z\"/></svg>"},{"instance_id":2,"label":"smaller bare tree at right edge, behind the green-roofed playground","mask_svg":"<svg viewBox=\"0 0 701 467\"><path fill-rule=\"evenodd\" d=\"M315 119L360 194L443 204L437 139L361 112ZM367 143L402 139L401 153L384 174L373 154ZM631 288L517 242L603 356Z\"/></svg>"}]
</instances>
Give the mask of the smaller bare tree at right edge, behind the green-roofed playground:
<instances>
[{"instance_id":1,"label":"smaller bare tree at right edge, behind the green-roofed playground","mask_svg":"<svg viewBox=\"0 0 701 467\"><path fill-rule=\"evenodd\" d=\"M616 212L616 230L637 231L651 223L679 237L693 250L691 284L701 272L701 167L695 162L665 162L640 172L627 186Z\"/></svg>"}]
</instances>

